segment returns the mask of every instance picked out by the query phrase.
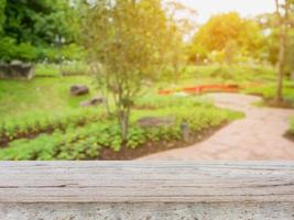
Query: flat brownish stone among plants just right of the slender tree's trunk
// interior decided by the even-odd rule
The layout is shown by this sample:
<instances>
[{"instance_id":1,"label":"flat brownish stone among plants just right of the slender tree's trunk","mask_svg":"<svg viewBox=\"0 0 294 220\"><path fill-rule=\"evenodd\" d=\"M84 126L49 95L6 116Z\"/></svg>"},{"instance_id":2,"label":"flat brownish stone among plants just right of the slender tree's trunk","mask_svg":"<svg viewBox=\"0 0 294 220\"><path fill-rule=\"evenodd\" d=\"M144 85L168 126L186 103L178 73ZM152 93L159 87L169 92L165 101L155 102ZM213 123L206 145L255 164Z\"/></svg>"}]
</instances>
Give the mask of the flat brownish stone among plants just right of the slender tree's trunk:
<instances>
[{"instance_id":1,"label":"flat brownish stone among plants just right of the slender tree's trunk","mask_svg":"<svg viewBox=\"0 0 294 220\"><path fill-rule=\"evenodd\" d=\"M171 127L175 124L175 119L174 118L144 117L144 118L139 119L137 122L142 128Z\"/></svg>"}]
</instances>

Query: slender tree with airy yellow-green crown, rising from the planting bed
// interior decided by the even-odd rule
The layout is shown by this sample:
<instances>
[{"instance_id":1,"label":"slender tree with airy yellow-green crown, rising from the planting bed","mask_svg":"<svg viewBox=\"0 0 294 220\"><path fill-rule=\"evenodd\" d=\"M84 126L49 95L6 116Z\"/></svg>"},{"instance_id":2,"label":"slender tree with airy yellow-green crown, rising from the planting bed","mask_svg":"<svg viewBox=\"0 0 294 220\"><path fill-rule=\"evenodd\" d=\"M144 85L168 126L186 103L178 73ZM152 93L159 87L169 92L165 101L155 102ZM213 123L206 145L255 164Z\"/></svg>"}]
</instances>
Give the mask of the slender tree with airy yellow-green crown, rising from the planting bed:
<instances>
[{"instance_id":1,"label":"slender tree with airy yellow-green crown, rising from the planting bed","mask_svg":"<svg viewBox=\"0 0 294 220\"><path fill-rule=\"evenodd\" d=\"M86 13L81 33L88 61L112 95L126 140L133 100L163 58L166 18L160 0L100 0Z\"/></svg>"}]
</instances>

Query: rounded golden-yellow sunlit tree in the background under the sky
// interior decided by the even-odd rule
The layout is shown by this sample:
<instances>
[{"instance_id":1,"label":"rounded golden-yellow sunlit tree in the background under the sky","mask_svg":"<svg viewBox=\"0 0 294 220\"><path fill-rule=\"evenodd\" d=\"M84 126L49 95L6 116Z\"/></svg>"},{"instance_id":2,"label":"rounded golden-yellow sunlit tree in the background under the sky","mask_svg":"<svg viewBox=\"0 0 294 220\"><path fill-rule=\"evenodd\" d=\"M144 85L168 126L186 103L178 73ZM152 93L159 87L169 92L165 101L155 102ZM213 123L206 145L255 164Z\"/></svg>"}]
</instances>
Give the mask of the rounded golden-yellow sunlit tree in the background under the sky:
<instances>
[{"instance_id":1,"label":"rounded golden-yellow sunlit tree in the background under the sky","mask_svg":"<svg viewBox=\"0 0 294 220\"><path fill-rule=\"evenodd\" d=\"M208 56L204 53L235 51L238 48L240 54L250 53L259 58L262 48L263 35L257 22L242 19L237 12L218 14L199 28L196 32L193 45L194 53L199 56ZM230 56L230 57L229 57ZM232 54L224 55L227 62L233 57Z\"/></svg>"}]
</instances>

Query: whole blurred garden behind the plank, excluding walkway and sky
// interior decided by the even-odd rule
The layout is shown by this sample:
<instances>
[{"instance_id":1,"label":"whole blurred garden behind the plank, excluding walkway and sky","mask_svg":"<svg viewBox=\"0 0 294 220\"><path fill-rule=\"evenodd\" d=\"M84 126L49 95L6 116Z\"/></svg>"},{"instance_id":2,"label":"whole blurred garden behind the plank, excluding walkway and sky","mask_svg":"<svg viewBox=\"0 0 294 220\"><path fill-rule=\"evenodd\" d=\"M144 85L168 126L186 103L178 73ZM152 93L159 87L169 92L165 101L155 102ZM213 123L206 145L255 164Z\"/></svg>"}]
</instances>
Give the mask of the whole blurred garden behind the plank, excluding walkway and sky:
<instances>
[{"instance_id":1,"label":"whole blurred garden behind the plank, excluding walkway and sky","mask_svg":"<svg viewBox=\"0 0 294 220\"><path fill-rule=\"evenodd\" d=\"M216 92L292 111L294 1L271 1L273 12L198 23L202 9L179 1L0 0L0 160L189 146L247 117L216 105Z\"/></svg>"}]
</instances>

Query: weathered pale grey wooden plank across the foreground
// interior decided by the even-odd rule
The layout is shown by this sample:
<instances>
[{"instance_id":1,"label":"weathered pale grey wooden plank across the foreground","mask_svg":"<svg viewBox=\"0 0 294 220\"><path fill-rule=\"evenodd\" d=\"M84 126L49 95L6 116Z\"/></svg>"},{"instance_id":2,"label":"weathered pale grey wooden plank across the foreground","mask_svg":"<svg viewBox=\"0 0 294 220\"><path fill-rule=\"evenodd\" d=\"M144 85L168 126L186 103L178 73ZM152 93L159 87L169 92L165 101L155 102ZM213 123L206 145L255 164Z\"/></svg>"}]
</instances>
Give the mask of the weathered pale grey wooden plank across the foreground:
<instances>
[{"instance_id":1,"label":"weathered pale grey wooden plank across the foreground","mask_svg":"<svg viewBox=\"0 0 294 220\"><path fill-rule=\"evenodd\" d=\"M294 163L1 162L0 202L294 202Z\"/></svg>"}]
</instances>

